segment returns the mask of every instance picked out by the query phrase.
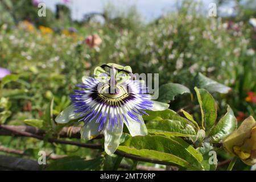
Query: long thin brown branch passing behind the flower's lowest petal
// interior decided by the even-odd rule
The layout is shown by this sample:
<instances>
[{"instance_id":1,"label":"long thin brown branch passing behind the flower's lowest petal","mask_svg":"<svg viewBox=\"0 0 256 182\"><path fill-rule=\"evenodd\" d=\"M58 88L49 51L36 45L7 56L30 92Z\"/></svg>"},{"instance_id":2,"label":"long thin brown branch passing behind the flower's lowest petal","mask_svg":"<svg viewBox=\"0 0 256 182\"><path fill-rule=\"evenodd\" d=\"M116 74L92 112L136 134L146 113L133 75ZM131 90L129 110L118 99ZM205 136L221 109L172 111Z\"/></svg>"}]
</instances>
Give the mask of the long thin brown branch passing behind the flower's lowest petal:
<instances>
[{"instance_id":1,"label":"long thin brown branch passing behind the flower's lowest petal","mask_svg":"<svg viewBox=\"0 0 256 182\"><path fill-rule=\"evenodd\" d=\"M24 131L24 130L19 131L14 126L0 125L0 130L9 130L9 132L11 132L14 135L19 135L19 136L22 136L22 137L32 137L32 138L36 138L36 139L39 139L39 140L44 140L43 136L39 136L39 135L36 135L36 134L33 134L33 133L28 133L27 131ZM75 141L59 140L59 139L55 139L55 138L48 138L47 141L50 142L50 143L71 144L73 146L104 150L104 148L102 148L101 144L80 143L80 142L75 142ZM142 161L142 162L163 164L163 165L167 165L167 166L168 165L169 166L173 165L172 163L165 162L165 161L162 161L162 160L143 158L143 157L140 157L140 156L137 156L137 155L127 154L125 152L118 151L118 150L115 151L115 154L119 155L119 156L123 156L125 158L139 160L139 161Z\"/></svg>"}]
</instances>

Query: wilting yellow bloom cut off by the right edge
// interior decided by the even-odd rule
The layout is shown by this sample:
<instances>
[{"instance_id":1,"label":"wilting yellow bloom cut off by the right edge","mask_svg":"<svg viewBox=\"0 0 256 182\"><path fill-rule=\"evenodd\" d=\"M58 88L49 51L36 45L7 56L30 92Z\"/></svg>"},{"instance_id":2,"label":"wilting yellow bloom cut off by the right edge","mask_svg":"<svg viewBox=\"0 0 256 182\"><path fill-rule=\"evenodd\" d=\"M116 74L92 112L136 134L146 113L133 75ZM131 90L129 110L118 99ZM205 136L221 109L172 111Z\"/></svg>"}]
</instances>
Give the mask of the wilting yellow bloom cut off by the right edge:
<instances>
[{"instance_id":1,"label":"wilting yellow bloom cut off by the right edge","mask_svg":"<svg viewBox=\"0 0 256 182\"><path fill-rule=\"evenodd\" d=\"M241 126L224 139L224 148L230 153L239 156L247 165L256 164L256 122L249 117Z\"/></svg>"}]
</instances>

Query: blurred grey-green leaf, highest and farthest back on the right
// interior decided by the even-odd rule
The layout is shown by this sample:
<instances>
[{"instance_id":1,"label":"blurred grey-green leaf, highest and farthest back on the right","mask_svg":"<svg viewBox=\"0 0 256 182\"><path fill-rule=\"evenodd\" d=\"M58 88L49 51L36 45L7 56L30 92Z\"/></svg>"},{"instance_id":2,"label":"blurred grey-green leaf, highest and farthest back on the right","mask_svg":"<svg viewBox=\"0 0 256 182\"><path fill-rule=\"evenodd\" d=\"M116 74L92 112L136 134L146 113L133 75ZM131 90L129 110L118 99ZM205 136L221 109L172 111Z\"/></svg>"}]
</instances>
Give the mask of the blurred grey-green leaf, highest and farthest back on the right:
<instances>
[{"instance_id":1,"label":"blurred grey-green leaf, highest and farthest back on the right","mask_svg":"<svg viewBox=\"0 0 256 182\"><path fill-rule=\"evenodd\" d=\"M228 93L231 88L225 85L218 83L202 73L199 73L195 78L195 86L198 88L207 89L209 92L218 92L218 93Z\"/></svg>"}]
</instances>

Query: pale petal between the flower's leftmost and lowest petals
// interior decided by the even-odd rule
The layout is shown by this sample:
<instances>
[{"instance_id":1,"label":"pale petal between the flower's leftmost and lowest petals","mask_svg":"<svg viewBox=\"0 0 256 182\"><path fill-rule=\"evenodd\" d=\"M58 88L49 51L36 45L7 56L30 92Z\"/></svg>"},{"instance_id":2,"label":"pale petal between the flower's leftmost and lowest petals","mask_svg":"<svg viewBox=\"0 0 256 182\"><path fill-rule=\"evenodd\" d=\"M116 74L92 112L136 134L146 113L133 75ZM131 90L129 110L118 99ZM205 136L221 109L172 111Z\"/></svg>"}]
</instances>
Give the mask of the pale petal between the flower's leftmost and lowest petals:
<instances>
[{"instance_id":1,"label":"pale petal between the flower's leftmost and lowest petals","mask_svg":"<svg viewBox=\"0 0 256 182\"><path fill-rule=\"evenodd\" d=\"M96 123L96 119L97 117L82 127L81 139L90 140L100 135L101 131L98 131L100 122Z\"/></svg>"}]
</instances>

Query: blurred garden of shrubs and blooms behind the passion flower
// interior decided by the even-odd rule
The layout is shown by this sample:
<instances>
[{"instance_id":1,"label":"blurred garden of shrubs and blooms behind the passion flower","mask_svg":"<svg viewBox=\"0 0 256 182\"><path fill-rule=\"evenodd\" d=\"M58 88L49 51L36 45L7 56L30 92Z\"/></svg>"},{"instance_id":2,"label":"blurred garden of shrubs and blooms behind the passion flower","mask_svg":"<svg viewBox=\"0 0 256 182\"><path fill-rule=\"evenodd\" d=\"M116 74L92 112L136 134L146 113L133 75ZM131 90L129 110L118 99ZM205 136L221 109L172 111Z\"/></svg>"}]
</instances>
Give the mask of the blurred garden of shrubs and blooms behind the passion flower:
<instances>
[{"instance_id":1,"label":"blurred garden of shrubs and blooms behind the passion flower","mask_svg":"<svg viewBox=\"0 0 256 182\"><path fill-rule=\"evenodd\" d=\"M42 119L52 98L56 117L71 104L68 96L81 77L92 76L105 63L130 65L135 73L159 73L159 85L175 82L191 90L200 72L232 88L228 94L214 93L218 112L225 114L230 105L238 125L249 115L256 117L256 1L213 1L213 17L208 15L211 1L163 1L164 8L162 1L148 1L151 9L146 1L100 1L100 8L91 11L87 0L81 6L75 0L46 1L46 16L39 17L40 2L0 1L1 123L26 125L26 119ZM80 15L82 5L86 12ZM159 9L154 15L142 12L154 11L154 6ZM10 73L13 81L4 80ZM187 98L177 97L170 108L193 105ZM62 156L97 155L34 138L0 136L1 145L24 151L9 155L26 154L28 159L37 159L39 148ZM133 166L129 159L126 163Z\"/></svg>"}]
</instances>

